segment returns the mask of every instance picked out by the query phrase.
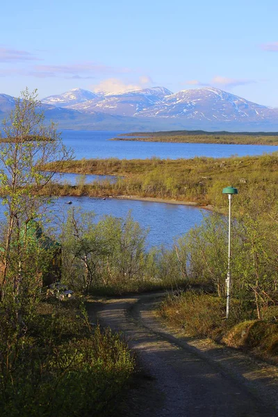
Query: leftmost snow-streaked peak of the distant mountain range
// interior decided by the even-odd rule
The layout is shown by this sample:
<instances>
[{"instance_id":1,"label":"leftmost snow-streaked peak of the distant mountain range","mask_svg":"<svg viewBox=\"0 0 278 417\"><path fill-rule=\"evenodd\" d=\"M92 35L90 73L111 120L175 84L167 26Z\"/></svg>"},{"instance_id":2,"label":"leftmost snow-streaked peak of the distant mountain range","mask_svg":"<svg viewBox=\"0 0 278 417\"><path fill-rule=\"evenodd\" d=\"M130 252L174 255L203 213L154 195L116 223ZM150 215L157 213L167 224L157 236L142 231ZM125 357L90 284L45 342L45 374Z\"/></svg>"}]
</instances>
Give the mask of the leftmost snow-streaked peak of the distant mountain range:
<instances>
[{"instance_id":1,"label":"leftmost snow-streaked peak of the distant mountain range","mask_svg":"<svg viewBox=\"0 0 278 417\"><path fill-rule=\"evenodd\" d=\"M74 88L73 90L64 92L60 95L45 97L42 99L42 103L52 104L56 107L66 107L71 106L72 104L79 104L83 103L84 101L95 99L95 97L98 97L95 92L82 90L82 88Z\"/></svg>"}]
</instances>

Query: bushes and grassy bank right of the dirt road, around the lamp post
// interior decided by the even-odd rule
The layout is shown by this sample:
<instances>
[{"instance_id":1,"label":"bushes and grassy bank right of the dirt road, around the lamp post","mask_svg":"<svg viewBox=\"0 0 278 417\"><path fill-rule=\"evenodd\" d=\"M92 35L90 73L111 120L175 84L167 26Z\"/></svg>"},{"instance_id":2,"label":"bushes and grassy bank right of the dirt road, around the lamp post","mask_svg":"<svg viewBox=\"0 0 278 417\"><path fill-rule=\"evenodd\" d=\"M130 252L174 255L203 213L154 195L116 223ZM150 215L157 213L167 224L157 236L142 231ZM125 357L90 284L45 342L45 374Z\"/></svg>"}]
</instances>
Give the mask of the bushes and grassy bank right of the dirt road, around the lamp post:
<instances>
[{"instance_id":1,"label":"bushes and grassy bank right of the dirt road, around the lamp post","mask_svg":"<svg viewBox=\"0 0 278 417\"><path fill-rule=\"evenodd\" d=\"M190 283L161 306L161 316L191 335L208 336L278 363L277 196L254 187L233 200L232 303L225 320L227 219L213 213L174 248ZM209 288L208 288L209 287Z\"/></svg>"}]
</instances>

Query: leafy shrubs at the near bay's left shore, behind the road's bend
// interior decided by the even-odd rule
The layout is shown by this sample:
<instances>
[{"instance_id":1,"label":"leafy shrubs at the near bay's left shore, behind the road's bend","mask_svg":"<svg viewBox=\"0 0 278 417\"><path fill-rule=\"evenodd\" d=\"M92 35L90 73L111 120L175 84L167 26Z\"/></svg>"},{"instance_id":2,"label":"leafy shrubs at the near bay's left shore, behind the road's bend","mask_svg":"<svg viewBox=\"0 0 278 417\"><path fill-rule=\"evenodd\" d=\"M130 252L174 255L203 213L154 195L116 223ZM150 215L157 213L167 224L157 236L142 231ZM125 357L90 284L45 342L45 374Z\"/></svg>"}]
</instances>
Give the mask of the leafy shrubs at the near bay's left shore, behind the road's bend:
<instances>
[{"instance_id":1,"label":"leafy shrubs at the near bay's left shore, behind the road's bend","mask_svg":"<svg viewBox=\"0 0 278 417\"><path fill-rule=\"evenodd\" d=\"M147 231L130 214L104 216L97 223L94 218L94 213L69 212L61 235L63 280L83 293L142 281Z\"/></svg>"}]
</instances>

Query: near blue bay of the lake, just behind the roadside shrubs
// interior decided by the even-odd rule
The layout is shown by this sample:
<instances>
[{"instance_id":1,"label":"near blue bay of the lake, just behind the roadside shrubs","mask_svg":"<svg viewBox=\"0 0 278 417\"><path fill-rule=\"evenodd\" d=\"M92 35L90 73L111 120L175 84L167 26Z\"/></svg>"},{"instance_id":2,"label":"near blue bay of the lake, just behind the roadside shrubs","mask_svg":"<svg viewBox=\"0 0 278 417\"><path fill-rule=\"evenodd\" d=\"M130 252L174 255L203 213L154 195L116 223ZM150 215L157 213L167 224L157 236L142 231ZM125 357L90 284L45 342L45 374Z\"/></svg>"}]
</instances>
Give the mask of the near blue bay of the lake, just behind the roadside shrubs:
<instances>
[{"instance_id":1,"label":"near blue bay of the lake, just behind the roadside shrubs","mask_svg":"<svg viewBox=\"0 0 278 417\"><path fill-rule=\"evenodd\" d=\"M72 204L67 204L68 202ZM147 246L165 245L170 247L173 239L185 234L195 224L202 221L208 211L195 206L141 202L129 199L95 198L95 197L59 197L53 206L54 224L59 227L65 220L67 211L80 207L82 211L94 211L96 221L102 215L114 215L125 218L131 211L133 220L144 229L149 229Z\"/></svg>"}]
</instances>

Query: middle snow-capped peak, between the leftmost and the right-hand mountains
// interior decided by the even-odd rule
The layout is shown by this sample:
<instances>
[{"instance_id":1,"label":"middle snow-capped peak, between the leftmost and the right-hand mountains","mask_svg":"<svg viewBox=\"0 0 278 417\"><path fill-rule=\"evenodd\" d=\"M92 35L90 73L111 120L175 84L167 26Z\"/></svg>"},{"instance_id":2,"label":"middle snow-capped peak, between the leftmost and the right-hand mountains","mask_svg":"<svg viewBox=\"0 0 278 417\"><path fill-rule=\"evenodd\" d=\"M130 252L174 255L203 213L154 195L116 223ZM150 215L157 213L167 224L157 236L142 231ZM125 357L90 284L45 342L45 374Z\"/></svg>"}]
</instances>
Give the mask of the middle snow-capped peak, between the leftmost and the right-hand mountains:
<instances>
[{"instance_id":1,"label":"middle snow-capped peak, between the leftmost and the right-hand mountains","mask_svg":"<svg viewBox=\"0 0 278 417\"><path fill-rule=\"evenodd\" d=\"M134 116L155 105L163 103L163 99L172 92L163 87L145 88L120 93L106 93L83 103L67 106L86 113L100 112L110 115Z\"/></svg>"}]
</instances>

